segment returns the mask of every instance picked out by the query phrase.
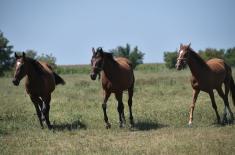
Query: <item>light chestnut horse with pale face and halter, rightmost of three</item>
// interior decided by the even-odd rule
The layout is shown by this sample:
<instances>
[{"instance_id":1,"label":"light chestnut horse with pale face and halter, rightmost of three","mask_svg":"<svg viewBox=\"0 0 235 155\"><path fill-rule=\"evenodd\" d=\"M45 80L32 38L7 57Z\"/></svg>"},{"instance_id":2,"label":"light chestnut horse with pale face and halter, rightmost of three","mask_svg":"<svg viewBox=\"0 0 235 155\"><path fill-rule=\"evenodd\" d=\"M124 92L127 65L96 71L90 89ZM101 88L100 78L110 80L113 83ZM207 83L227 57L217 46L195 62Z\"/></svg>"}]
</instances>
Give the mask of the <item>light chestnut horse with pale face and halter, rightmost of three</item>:
<instances>
[{"instance_id":1,"label":"light chestnut horse with pale face and halter, rightmost of three","mask_svg":"<svg viewBox=\"0 0 235 155\"><path fill-rule=\"evenodd\" d=\"M190 107L189 112L189 126L192 125L193 121L193 111L195 108L195 103L200 91L209 94L212 107L215 111L217 117L217 123L224 124L227 123L227 111L230 113L231 121L234 120L233 113L229 106L228 94L231 92L233 104L235 106L235 85L232 77L231 67L224 62L222 59L213 58L208 61L204 61L189 45L180 44L179 54L176 63L176 69L181 70L189 66L192 73L191 76L191 86L193 88L193 102ZM224 84L225 93L222 89L222 84ZM224 113L222 122L220 120L220 115L217 110L214 92L216 89L219 96L224 101Z\"/></svg>"}]
</instances>

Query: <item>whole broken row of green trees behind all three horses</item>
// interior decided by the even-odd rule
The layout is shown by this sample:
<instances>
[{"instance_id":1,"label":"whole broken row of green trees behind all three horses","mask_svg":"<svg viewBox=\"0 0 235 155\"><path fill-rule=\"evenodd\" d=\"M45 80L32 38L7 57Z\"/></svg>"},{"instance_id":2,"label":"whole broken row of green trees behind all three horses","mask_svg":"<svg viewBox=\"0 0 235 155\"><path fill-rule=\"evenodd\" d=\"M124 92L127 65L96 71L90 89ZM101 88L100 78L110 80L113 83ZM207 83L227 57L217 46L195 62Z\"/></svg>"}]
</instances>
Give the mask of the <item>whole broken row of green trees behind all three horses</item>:
<instances>
[{"instance_id":1,"label":"whole broken row of green trees behind all three horses","mask_svg":"<svg viewBox=\"0 0 235 155\"><path fill-rule=\"evenodd\" d=\"M4 75L5 71L9 71L14 65L13 53L22 53L23 51L14 51L13 46L9 45L9 40L4 37L3 33L0 31L0 76ZM48 62L52 67L56 68L56 57L52 54L41 54L38 55L35 50L24 51L28 57L39 61ZM109 50L114 56L122 56L128 58L135 68L137 65L143 63L144 55L142 51L139 50L138 46L131 48L130 44L125 46L118 46L114 49ZM206 48L205 50L199 50L199 55L204 60L209 60L211 58L221 58L224 59L230 66L235 66L235 47L228 49L215 49ZM164 52L164 62L167 68L174 68L176 64L176 59L178 56L177 51L167 51Z\"/></svg>"}]
</instances>

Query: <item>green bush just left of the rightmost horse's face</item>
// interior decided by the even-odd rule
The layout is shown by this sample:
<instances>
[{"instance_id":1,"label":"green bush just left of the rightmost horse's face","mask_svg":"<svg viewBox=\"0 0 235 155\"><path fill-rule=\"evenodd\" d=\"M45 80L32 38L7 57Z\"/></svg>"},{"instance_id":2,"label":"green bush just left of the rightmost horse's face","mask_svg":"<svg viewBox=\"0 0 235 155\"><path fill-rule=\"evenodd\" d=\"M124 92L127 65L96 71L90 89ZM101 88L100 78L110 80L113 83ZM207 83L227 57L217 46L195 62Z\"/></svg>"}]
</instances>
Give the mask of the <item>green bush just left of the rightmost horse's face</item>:
<instances>
[{"instance_id":1,"label":"green bush just left of the rightmost horse's face","mask_svg":"<svg viewBox=\"0 0 235 155\"><path fill-rule=\"evenodd\" d=\"M175 52L164 52L164 61L167 68L175 68L177 59L177 51Z\"/></svg>"}]
</instances>

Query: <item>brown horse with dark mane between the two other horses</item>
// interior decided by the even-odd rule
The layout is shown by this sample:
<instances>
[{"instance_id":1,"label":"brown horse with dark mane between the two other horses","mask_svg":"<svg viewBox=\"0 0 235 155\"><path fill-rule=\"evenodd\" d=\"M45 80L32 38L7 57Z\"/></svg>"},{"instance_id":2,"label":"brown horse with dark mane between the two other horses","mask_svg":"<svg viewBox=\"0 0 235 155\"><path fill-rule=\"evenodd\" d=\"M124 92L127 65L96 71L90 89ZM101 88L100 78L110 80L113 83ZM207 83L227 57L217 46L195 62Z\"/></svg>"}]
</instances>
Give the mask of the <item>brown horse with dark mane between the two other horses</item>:
<instances>
[{"instance_id":1,"label":"brown horse with dark mane between the two other horses","mask_svg":"<svg viewBox=\"0 0 235 155\"><path fill-rule=\"evenodd\" d=\"M106 53L102 48L98 48L96 51L92 48L93 56L91 59L91 79L95 80L97 75L101 72L102 87L104 90L104 101L102 104L104 112L104 121L106 123L106 128L110 128L111 125L108 121L108 116L106 113L107 101L111 93L115 94L115 97L118 101L118 113L120 127L123 127L125 123L124 116L124 105L122 102L123 91L128 90L128 106L130 113L130 124L134 125L133 116L132 116L132 96L134 89L134 72L131 62L126 58L113 58L111 53Z\"/></svg>"}]
</instances>

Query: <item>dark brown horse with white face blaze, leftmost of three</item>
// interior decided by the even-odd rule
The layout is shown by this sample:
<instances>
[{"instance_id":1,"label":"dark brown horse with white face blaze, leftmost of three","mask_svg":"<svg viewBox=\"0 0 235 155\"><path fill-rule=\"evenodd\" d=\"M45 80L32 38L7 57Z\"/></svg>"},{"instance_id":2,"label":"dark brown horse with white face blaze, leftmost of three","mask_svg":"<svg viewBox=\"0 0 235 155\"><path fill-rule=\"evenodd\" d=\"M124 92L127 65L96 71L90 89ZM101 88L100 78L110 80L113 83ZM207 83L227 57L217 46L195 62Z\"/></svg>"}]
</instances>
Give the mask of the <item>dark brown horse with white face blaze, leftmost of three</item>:
<instances>
[{"instance_id":1,"label":"dark brown horse with white face blaze, leftmost of three","mask_svg":"<svg viewBox=\"0 0 235 155\"><path fill-rule=\"evenodd\" d=\"M15 53L16 69L14 79L15 86L18 86L20 80L26 76L25 88L33 102L41 127L43 121L49 129L52 128L49 120L51 93L57 84L65 84L64 80L52 71L52 67L44 62L39 62L28 58L23 52L23 56Z\"/></svg>"}]
</instances>

